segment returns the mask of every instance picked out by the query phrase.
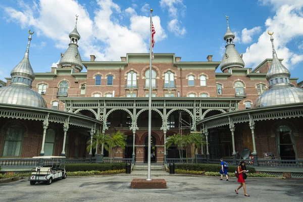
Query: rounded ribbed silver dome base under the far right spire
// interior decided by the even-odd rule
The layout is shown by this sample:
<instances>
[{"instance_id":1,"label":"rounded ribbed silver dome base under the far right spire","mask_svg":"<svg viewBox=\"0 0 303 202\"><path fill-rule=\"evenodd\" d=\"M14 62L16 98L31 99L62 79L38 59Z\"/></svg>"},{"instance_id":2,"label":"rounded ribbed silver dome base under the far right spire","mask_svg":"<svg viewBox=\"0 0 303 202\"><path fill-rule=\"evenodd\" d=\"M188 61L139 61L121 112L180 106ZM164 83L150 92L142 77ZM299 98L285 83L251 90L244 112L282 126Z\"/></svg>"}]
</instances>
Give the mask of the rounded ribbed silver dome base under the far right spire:
<instances>
[{"instance_id":1,"label":"rounded ribbed silver dome base under the far right spire","mask_svg":"<svg viewBox=\"0 0 303 202\"><path fill-rule=\"evenodd\" d=\"M301 102L303 102L303 89L290 85L279 85L272 87L260 95L256 99L254 107L258 108Z\"/></svg>"}]
</instances>

